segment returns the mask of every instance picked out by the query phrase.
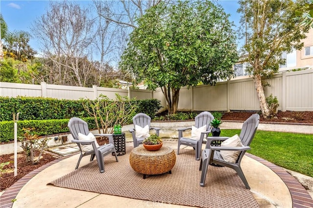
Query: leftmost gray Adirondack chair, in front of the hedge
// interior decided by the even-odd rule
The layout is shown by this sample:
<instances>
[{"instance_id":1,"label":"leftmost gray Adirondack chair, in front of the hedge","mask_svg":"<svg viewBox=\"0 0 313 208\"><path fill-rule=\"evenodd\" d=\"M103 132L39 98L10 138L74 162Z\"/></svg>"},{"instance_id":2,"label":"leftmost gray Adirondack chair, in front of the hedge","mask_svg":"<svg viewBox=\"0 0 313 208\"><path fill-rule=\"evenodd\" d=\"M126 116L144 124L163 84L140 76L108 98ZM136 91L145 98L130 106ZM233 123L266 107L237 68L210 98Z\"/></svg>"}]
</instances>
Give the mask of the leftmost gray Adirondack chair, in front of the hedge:
<instances>
[{"instance_id":1,"label":"leftmost gray Adirondack chair, in front of the hedge","mask_svg":"<svg viewBox=\"0 0 313 208\"><path fill-rule=\"evenodd\" d=\"M94 156L96 156L97 162L98 162L98 167L101 173L104 172L104 161L103 161L103 157L107 154L110 154L111 152L115 153L115 159L116 162L118 162L117 159L117 154L115 151L115 147L114 147L114 142L113 142L113 136L112 134L94 134L94 136L107 136L109 138L109 144L106 145L102 145L100 147L96 147L94 141L91 140L79 140L78 139L78 133L82 133L84 135L88 135L89 134L89 128L88 128L88 124L83 121L80 118L77 117L72 117L71 119L69 119L67 127L69 129L69 132L72 134L73 136L73 140L72 142L76 143L78 145L78 148L80 150L80 156L76 165L76 168L78 168L79 163L81 161L81 159L84 156L90 156L90 161L92 161L94 159ZM87 152L83 152L82 151L82 145L92 145L93 150L92 151L87 151Z\"/></svg>"}]
</instances>

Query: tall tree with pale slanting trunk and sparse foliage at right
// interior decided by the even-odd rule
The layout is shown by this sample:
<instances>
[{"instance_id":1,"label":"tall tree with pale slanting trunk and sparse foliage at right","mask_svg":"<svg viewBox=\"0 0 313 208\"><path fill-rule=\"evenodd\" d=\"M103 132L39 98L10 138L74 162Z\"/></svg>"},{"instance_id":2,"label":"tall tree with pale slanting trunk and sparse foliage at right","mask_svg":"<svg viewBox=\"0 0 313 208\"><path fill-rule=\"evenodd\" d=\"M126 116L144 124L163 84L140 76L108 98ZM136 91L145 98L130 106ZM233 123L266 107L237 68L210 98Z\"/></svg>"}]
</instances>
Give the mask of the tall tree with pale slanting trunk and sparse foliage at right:
<instances>
[{"instance_id":1,"label":"tall tree with pale slanting trunk and sparse foliage at right","mask_svg":"<svg viewBox=\"0 0 313 208\"><path fill-rule=\"evenodd\" d=\"M268 105L261 77L271 77L285 63L282 53L303 47L309 26L295 19L301 2L293 0L240 0L242 33L246 42L243 46L248 55L247 70L253 75L255 89L264 118L276 114L277 105Z\"/></svg>"}]
</instances>

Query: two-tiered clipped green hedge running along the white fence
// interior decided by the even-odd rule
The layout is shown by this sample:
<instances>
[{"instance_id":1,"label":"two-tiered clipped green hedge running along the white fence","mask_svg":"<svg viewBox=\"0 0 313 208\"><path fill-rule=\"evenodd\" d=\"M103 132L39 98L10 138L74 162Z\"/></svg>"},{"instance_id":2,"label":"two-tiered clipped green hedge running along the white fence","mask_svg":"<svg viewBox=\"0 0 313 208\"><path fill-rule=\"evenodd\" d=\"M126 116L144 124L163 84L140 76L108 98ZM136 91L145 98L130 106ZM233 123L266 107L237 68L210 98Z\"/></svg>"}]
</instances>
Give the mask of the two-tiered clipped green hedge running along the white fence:
<instances>
[{"instance_id":1,"label":"two-tiered clipped green hedge running along the white fence","mask_svg":"<svg viewBox=\"0 0 313 208\"><path fill-rule=\"evenodd\" d=\"M18 137L23 135L22 128L35 128L37 135L49 135L68 132L67 123L71 117L80 117L95 128L94 118L83 109L84 100L58 100L42 97L0 97L0 141L14 139L14 121L12 113L21 112L18 121ZM138 106L137 113L156 115L161 107L157 99L133 100ZM131 121L130 121L131 122Z\"/></svg>"}]
</instances>

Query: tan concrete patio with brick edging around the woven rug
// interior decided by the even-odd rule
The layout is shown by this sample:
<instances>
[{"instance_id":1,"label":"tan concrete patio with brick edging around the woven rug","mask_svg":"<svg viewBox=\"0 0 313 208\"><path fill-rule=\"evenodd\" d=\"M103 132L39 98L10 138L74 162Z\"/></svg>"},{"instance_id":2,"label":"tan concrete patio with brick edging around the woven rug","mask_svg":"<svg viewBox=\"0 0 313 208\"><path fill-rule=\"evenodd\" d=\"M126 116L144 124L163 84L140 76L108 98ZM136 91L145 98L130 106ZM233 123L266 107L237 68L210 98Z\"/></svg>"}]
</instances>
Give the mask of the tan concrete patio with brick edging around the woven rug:
<instances>
[{"instance_id":1,"label":"tan concrete patio with brick edging around the woven rug","mask_svg":"<svg viewBox=\"0 0 313 208\"><path fill-rule=\"evenodd\" d=\"M242 123L239 125L241 127ZM126 132L125 129L123 132ZM176 129L160 132L164 138L171 138L176 134ZM126 138L126 145L133 146L131 135L127 133ZM177 149L176 139L164 139L163 143ZM77 152L61 156L60 159L24 176L2 192L0 208L184 207L46 185L73 171L78 157ZM89 157L83 157L80 167L87 163ZM242 160L242 169L251 187L250 191L261 208L313 207L312 196L286 170L248 153ZM15 201L13 204L12 199Z\"/></svg>"}]
</instances>

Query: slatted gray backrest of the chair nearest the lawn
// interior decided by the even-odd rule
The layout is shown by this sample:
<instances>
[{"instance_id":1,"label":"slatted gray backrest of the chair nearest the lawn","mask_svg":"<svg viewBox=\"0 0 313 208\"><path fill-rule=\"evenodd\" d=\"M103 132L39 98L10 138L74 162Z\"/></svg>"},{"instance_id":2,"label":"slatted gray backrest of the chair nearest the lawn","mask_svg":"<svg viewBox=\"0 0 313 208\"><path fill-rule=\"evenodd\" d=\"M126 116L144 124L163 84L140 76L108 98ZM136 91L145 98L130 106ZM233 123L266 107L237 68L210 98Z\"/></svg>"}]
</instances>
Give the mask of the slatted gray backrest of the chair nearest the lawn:
<instances>
[{"instance_id":1,"label":"slatted gray backrest of the chair nearest the lawn","mask_svg":"<svg viewBox=\"0 0 313 208\"><path fill-rule=\"evenodd\" d=\"M249 146L260 122L260 115L255 113L251 115L243 124L240 132L240 139L243 145Z\"/></svg>"}]
</instances>

